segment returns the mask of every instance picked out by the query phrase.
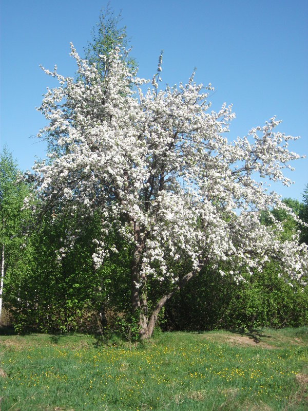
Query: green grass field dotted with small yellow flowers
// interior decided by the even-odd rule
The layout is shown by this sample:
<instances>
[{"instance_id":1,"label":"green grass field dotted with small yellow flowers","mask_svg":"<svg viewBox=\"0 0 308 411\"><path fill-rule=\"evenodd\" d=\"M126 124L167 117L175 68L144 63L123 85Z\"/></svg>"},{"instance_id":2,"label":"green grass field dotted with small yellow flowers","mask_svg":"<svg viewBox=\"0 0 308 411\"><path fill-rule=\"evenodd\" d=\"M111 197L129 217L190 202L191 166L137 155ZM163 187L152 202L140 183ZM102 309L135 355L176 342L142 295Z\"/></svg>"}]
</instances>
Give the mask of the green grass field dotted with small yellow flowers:
<instances>
[{"instance_id":1,"label":"green grass field dotted with small yellow flowers","mask_svg":"<svg viewBox=\"0 0 308 411\"><path fill-rule=\"evenodd\" d=\"M2 335L0 355L1 411L308 409L308 327L159 333L131 351L91 335Z\"/></svg>"}]
</instances>

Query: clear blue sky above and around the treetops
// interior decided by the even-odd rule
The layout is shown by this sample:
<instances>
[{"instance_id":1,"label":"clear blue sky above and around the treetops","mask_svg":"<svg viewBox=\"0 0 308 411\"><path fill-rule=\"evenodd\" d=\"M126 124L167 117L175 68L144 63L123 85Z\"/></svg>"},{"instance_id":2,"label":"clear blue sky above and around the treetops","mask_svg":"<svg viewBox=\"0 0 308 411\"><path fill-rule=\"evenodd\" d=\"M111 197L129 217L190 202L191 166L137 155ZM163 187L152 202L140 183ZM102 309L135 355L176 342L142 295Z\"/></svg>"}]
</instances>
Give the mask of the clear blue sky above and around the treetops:
<instances>
[{"instance_id":1,"label":"clear blue sky above and around the treetops","mask_svg":"<svg viewBox=\"0 0 308 411\"><path fill-rule=\"evenodd\" d=\"M45 156L35 136L45 124L35 106L51 79L38 67L73 76L72 42L82 54L107 2L94 0L1 0L1 148L7 145L20 169ZM164 50L162 79L185 83L194 67L198 83L211 83L218 109L233 103L236 119L229 138L274 115L280 131L299 135L291 150L308 154L307 0L111 0L131 38L139 76L151 78ZM283 197L301 199L308 159L294 163Z\"/></svg>"}]
</instances>

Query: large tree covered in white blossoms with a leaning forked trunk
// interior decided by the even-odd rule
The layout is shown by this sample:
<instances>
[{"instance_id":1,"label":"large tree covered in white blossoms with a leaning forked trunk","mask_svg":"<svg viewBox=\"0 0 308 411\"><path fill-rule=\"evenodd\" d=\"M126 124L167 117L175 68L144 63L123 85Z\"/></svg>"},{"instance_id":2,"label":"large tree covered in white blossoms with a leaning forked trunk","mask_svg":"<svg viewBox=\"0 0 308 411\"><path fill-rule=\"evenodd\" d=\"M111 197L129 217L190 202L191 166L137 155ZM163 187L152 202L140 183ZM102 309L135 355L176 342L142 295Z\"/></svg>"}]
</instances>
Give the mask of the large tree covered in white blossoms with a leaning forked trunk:
<instances>
[{"instance_id":1,"label":"large tree covered in white blossoms with a leaning forked trunk","mask_svg":"<svg viewBox=\"0 0 308 411\"><path fill-rule=\"evenodd\" d=\"M43 210L80 213L81 228L84 217L99 210L97 267L111 252L104 242L110 230L131 246L131 307L139 313L141 338L151 336L164 304L206 265L229 263L239 281L244 270L262 270L272 258L280 261L281 275L304 281L306 245L297 237L279 241L281 223L262 226L256 213L287 209L266 183L288 185L282 171L299 158L287 150L295 137L275 133L279 121L228 141L234 114L225 104L217 113L209 110L210 85L196 85L192 76L160 90L161 58L150 83L131 73L119 49L101 56L108 67L102 78L73 46L71 54L77 81L56 67L45 70L59 87L47 90L39 108L48 125L38 137L48 141L49 158L33 167L34 191ZM69 233L60 257L76 235ZM189 269L179 273L174 267L183 256ZM168 291L149 304L152 279Z\"/></svg>"}]
</instances>

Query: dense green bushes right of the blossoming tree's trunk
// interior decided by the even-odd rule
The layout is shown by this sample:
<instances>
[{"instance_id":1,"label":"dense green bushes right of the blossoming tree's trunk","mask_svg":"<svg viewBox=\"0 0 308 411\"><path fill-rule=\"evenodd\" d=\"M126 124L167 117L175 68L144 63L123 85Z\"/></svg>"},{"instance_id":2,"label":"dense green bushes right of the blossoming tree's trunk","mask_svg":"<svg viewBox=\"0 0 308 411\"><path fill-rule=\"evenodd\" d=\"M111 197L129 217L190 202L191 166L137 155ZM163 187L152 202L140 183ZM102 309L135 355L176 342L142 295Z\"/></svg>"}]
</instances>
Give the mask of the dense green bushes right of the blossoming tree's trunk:
<instances>
[{"instance_id":1,"label":"dense green bushes right of the blossoming tree's trunk","mask_svg":"<svg viewBox=\"0 0 308 411\"><path fill-rule=\"evenodd\" d=\"M246 282L204 270L166 306L164 328L174 330L297 327L308 324L308 290L279 278L268 264Z\"/></svg>"}]
</instances>

